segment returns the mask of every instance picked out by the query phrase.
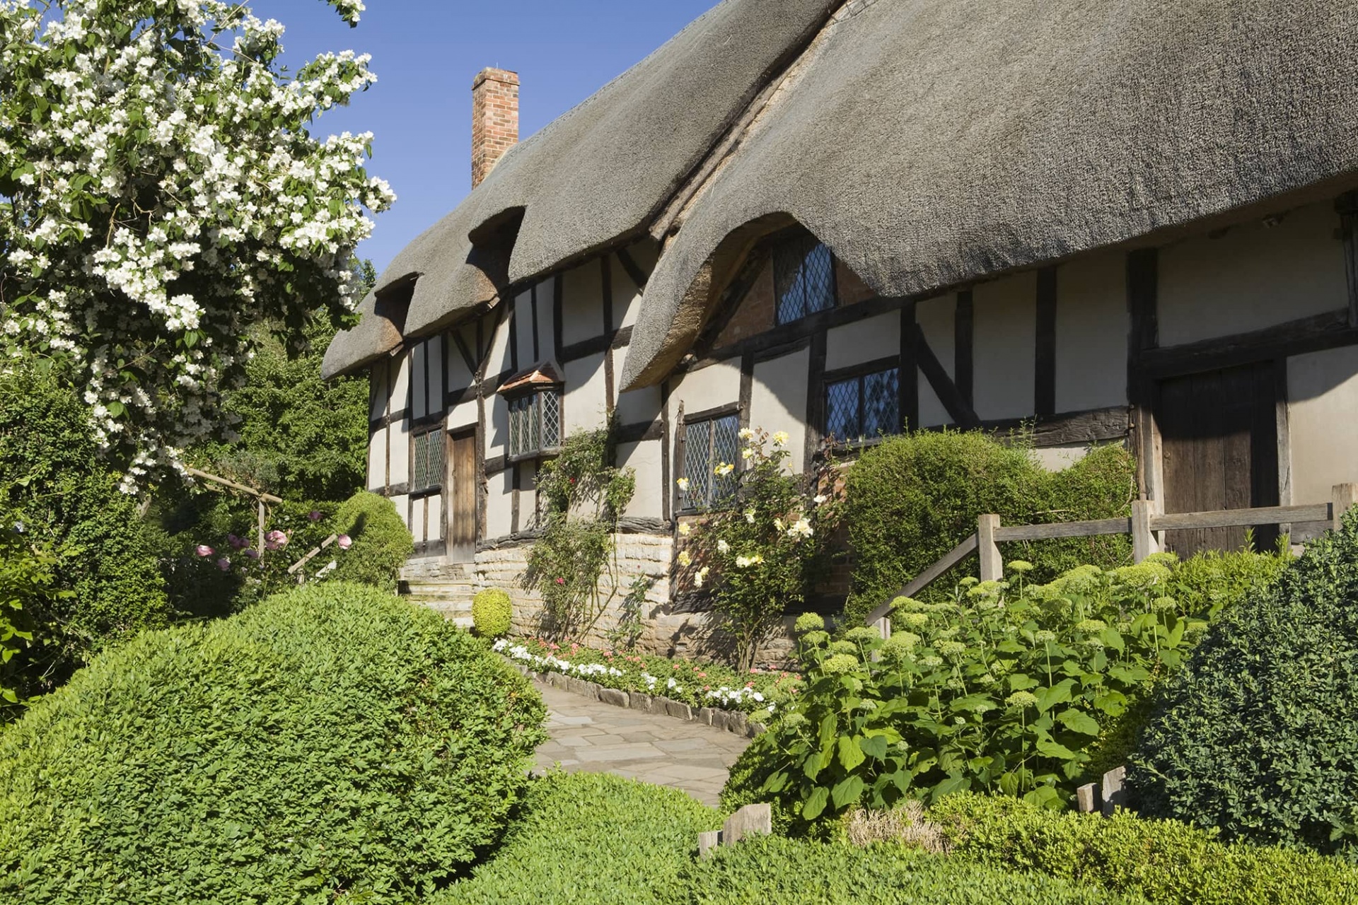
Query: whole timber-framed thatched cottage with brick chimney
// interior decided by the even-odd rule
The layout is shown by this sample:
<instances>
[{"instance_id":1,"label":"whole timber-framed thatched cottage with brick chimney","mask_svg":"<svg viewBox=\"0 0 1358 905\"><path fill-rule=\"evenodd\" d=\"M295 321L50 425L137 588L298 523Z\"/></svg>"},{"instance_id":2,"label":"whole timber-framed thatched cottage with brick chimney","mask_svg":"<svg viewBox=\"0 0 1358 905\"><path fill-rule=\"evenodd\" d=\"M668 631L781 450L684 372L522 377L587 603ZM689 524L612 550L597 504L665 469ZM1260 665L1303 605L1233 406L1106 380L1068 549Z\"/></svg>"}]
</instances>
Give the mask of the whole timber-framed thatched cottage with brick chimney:
<instances>
[{"instance_id":1,"label":"whole timber-framed thatched cottage with brick chimney","mask_svg":"<svg viewBox=\"0 0 1358 905\"><path fill-rule=\"evenodd\" d=\"M1167 512L1324 502L1358 478L1355 35L1343 0L725 0L519 144L482 72L471 194L326 355L371 374L411 589L530 615L535 471L610 411L657 647L703 619L671 532L741 426L801 468L1029 419L1052 467L1130 444Z\"/></svg>"}]
</instances>

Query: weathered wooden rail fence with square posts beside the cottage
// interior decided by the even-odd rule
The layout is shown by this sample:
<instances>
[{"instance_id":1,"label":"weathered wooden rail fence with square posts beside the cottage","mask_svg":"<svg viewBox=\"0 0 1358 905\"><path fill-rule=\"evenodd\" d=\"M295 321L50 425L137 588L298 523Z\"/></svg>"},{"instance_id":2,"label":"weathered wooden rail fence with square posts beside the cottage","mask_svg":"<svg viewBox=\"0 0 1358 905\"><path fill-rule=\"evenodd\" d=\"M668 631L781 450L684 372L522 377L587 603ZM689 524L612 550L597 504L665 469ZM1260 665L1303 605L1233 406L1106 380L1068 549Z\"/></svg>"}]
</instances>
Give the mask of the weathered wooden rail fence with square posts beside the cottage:
<instances>
[{"instance_id":1,"label":"weathered wooden rail fence with square posts beside the cottage","mask_svg":"<svg viewBox=\"0 0 1358 905\"><path fill-rule=\"evenodd\" d=\"M964 560L971 554L980 558L980 581L1004 578L1004 559L999 544L1009 540L1052 540L1057 537L1093 537L1096 535L1131 535L1131 554L1138 563L1164 548L1162 533L1194 528L1238 528L1249 525L1293 525L1328 522L1339 528L1348 507L1358 502L1358 484L1335 484L1328 503L1312 506L1260 506L1256 509L1218 509L1202 513L1162 513L1150 499L1131 501L1131 516L1126 518L1099 518L1093 521L1063 521L1048 525L1001 525L999 516L976 518L976 533L948 551L941 559L914 577L896 597L914 597L936 578ZM868 615L868 624L880 623L883 634L891 628L884 620L891 612L891 600Z\"/></svg>"}]
</instances>

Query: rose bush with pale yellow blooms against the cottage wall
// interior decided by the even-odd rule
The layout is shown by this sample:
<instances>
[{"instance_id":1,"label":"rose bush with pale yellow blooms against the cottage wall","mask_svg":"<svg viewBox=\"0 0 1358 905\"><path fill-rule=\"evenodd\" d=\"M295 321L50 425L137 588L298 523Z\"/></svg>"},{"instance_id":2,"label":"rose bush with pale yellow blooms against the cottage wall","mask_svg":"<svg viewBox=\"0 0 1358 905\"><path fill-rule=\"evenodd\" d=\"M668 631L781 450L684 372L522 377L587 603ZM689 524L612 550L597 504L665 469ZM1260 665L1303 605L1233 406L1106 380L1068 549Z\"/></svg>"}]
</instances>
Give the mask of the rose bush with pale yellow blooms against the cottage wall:
<instances>
[{"instance_id":1,"label":"rose bush with pale yellow blooms against the cottage wall","mask_svg":"<svg viewBox=\"0 0 1358 905\"><path fill-rule=\"evenodd\" d=\"M737 665L748 669L782 615L805 601L816 566L830 552L839 482L830 459L809 486L789 474L788 434L782 431L770 437L746 427L740 438L744 468L735 495L718 502L697 526L679 526L686 548L678 559L693 585L712 593L721 625L735 639ZM718 463L714 471L724 478L735 471L735 463ZM686 488L686 479L679 483Z\"/></svg>"}]
</instances>

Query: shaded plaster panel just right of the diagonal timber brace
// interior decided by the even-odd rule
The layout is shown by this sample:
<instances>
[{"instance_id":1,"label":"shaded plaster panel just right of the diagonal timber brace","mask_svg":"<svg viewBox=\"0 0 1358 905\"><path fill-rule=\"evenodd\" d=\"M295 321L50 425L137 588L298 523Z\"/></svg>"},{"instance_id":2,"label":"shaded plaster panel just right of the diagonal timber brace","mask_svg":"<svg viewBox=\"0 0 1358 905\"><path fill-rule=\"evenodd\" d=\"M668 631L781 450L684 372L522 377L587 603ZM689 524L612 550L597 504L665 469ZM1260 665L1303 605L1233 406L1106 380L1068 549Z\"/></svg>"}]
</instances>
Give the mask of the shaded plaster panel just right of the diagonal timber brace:
<instances>
[{"instance_id":1,"label":"shaded plaster panel just right of the diagonal timber brace","mask_svg":"<svg viewBox=\"0 0 1358 905\"><path fill-rule=\"evenodd\" d=\"M1038 343L1038 274L983 282L971 292L975 312L972 395L982 421L1033 412Z\"/></svg>"}]
</instances>

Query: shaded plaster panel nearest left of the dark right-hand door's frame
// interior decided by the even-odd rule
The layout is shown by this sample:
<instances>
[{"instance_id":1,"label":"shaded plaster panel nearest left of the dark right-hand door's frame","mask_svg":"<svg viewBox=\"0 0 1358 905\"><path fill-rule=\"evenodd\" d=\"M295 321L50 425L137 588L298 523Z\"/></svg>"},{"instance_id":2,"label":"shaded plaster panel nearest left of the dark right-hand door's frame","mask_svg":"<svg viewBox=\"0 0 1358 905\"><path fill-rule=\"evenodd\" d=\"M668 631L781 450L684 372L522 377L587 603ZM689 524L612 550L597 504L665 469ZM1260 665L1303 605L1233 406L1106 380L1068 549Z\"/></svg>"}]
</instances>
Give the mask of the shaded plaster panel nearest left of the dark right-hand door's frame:
<instances>
[{"instance_id":1,"label":"shaded plaster panel nearest left of the dark right-hand door's frame","mask_svg":"<svg viewBox=\"0 0 1358 905\"><path fill-rule=\"evenodd\" d=\"M1057 411L1127 403L1127 330L1124 255L1057 269Z\"/></svg>"}]
</instances>

